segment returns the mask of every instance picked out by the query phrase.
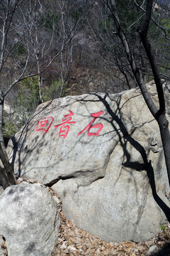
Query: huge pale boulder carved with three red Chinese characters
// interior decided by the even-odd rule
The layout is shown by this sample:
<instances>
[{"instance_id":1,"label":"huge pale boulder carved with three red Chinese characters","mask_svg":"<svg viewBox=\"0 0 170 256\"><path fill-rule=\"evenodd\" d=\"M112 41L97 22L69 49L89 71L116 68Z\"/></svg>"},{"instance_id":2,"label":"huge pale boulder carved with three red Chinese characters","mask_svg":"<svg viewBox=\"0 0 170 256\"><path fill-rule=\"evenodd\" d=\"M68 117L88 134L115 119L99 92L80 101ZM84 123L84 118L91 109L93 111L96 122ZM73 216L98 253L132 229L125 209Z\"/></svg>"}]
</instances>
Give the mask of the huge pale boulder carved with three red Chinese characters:
<instances>
[{"instance_id":1,"label":"huge pale boulder carved with three red Chinese characters","mask_svg":"<svg viewBox=\"0 0 170 256\"><path fill-rule=\"evenodd\" d=\"M138 89L38 106L8 156L16 174L52 186L67 218L103 240L147 240L169 218L159 127Z\"/></svg>"}]
</instances>

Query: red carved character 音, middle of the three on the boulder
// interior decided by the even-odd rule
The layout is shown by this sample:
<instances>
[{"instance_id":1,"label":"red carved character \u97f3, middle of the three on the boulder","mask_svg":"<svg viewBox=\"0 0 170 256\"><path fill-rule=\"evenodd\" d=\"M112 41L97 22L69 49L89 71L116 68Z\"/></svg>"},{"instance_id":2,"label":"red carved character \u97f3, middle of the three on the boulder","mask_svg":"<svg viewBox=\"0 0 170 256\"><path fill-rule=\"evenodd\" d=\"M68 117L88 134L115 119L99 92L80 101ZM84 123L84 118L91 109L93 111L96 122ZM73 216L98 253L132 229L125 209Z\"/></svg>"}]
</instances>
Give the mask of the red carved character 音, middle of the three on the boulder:
<instances>
[{"instance_id":1,"label":"red carved character \u97f3, middle of the three on the boulder","mask_svg":"<svg viewBox=\"0 0 170 256\"><path fill-rule=\"evenodd\" d=\"M75 124L76 122L71 121L72 120L73 112L69 110L69 114L65 114L64 118L62 119L62 124L55 125L55 128L60 127L59 131L59 137L67 137L67 134L69 132L69 124Z\"/></svg>"}]
</instances>

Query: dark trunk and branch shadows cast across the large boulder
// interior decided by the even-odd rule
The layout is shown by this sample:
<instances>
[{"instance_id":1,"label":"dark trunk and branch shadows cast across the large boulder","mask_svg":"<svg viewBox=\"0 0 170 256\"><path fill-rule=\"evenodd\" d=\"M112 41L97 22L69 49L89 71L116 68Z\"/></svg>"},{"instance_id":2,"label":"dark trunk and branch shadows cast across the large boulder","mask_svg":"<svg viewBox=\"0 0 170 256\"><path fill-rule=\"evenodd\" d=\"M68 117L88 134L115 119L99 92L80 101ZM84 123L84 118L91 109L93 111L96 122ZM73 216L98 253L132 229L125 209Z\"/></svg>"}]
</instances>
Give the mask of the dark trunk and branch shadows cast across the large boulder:
<instances>
[{"instance_id":1,"label":"dark trunk and branch shadows cast across the large boulder","mask_svg":"<svg viewBox=\"0 0 170 256\"><path fill-rule=\"evenodd\" d=\"M113 130L116 132L116 134L118 134L120 146L122 146L123 153L126 157L126 161L123 163L123 166L128 167L130 169L134 169L136 171L146 170L147 176L149 178L149 184L152 189L152 195L154 197L154 200L157 202L158 206L160 208L162 208L162 210L164 211L164 214L166 215L167 220L170 221L170 208L168 206L166 206L166 203L164 203L164 201L162 201L162 199L157 195L155 179L154 179L154 170L152 167L152 163L151 163L151 161L148 161L147 153L146 153L144 147L132 137L132 135L128 132L127 128L125 127L125 124L123 124L123 121L121 120L121 118L118 117L118 111L120 112L120 105L119 105L120 102L117 103L118 107L117 107L116 112L113 112L113 110L111 110L111 106L108 104L108 101L107 101L108 94L101 96L100 94L97 94L97 93L91 93L91 95L96 96L96 98L98 99L98 100L92 100L92 101L102 102L103 106L106 108L106 111L110 116L107 119L107 122L111 123ZM76 100L76 101L83 103L83 102L89 102L90 100L86 99L86 97L85 97L84 99ZM23 144L26 139L27 133L29 131L28 124L29 124L30 120L35 117L35 115L38 115L38 114L40 114L40 112L43 112L45 110L45 108L47 108L50 105L50 103L51 102L49 102L47 105L45 105L45 107L42 107L39 112L37 112L36 114L33 114L33 116L30 117L30 119L28 119L28 122L27 122L26 126L23 128L20 138L19 138L19 140L17 139L17 142L16 142L15 137L11 138L11 140L13 142L13 156L11 159L11 166L12 167L14 166L16 154L18 152L18 176L21 176L20 154L21 154L21 151L23 150ZM43 136L42 136L41 140L42 139L43 139ZM130 161L130 153L128 152L128 149L127 149L128 142L140 153L140 155L142 156L142 163L137 162L137 161ZM18 150L19 143L21 143L21 146L20 146L20 149ZM35 149L36 146L40 146L40 144L38 145L38 143L36 143L36 141L35 141L35 144L33 145L33 149ZM33 149L32 149L32 151L33 151ZM27 152L27 153L28 154L26 154L26 157L28 158L29 152ZM25 160L26 159L23 159L22 162ZM74 174L74 176L66 176L66 177L62 177L62 178L70 178L70 177L71 178L77 177L77 174ZM60 178L61 177L57 177L54 182L57 182Z\"/></svg>"}]
</instances>

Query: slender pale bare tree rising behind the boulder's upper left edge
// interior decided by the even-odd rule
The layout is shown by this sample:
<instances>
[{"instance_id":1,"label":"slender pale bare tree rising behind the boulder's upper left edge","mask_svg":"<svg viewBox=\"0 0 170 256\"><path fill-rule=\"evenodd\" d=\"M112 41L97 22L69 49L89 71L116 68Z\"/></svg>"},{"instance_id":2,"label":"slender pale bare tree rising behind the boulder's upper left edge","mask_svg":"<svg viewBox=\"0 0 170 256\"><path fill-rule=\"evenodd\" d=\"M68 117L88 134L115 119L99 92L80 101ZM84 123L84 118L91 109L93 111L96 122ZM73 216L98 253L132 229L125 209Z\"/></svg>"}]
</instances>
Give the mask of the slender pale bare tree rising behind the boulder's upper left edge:
<instances>
[{"instance_id":1,"label":"slender pale bare tree rising behind the boulder's upper left edge","mask_svg":"<svg viewBox=\"0 0 170 256\"><path fill-rule=\"evenodd\" d=\"M36 73L38 73L37 86L40 102L44 101L41 71L52 58L51 53L55 49L54 34L57 30L55 14L49 10L45 11L42 7L44 7L42 4L34 2L34 6L30 6L28 15L23 11L23 20L28 23L23 33L26 38L26 48L32 57L32 61L35 62ZM19 30L18 33L21 33L21 38L23 38L22 31Z\"/></svg>"}]
</instances>

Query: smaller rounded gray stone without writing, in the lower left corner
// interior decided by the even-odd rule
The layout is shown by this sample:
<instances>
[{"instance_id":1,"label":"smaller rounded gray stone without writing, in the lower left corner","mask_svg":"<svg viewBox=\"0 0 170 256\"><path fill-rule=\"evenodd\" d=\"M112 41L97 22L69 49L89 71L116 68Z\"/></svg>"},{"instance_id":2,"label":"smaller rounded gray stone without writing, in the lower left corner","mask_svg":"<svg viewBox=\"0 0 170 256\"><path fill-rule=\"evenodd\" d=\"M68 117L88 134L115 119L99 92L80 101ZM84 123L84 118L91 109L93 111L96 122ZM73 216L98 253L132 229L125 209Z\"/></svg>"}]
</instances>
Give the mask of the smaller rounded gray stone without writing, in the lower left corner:
<instances>
[{"instance_id":1,"label":"smaller rounded gray stone without writing, in the lower left corner","mask_svg":"<svg viewBox=\"0 0 170 256\"><path fill-rule=\"evenodd\" d=\"M0 196L0 233L8 256L51 256L60 227L57 204L40 184L10 186Z\"/></svg>"}]
</instances>

